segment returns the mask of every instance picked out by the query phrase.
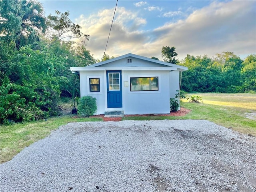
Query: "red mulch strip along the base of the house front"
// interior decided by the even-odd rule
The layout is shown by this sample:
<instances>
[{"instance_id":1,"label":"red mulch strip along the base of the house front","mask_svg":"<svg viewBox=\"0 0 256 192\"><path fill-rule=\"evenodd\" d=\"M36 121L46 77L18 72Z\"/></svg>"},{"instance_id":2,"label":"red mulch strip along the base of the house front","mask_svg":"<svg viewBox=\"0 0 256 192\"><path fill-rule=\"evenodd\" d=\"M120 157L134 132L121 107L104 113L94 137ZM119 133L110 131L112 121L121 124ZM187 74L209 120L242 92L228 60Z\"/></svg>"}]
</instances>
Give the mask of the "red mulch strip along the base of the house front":
<instances>
[{"instance_id":1,"label":"red mulch strip along the base of the house front","mask_svg":"<svg viewBox=\"0 0 256 192\"><path fill-rule=\"evenodd\" d=\"M180 111L170 112L170 114L142 114L142 115L125 115L125 117L134 117L134 116L184 116L188 114L191 110L186 109L184 107L180 108ZM90 117L99 117L102 118L103 121L121 121L122 117L104 117L103 114L101 115L93 115ZM74 116L73 118L78 118L78 116Z\"/></svg>"}]
</instances>

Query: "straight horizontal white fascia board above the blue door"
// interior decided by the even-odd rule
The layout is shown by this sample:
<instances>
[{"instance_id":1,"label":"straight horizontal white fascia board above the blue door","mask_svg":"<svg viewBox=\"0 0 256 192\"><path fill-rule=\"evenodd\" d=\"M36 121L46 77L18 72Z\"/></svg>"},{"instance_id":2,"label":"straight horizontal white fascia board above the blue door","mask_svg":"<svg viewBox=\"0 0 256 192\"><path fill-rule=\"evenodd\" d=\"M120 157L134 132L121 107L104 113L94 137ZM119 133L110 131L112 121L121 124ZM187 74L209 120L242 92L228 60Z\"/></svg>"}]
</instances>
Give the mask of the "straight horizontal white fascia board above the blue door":
<instances>
[{"instance_id":1,"label":"straight horizontal white fascia board above the blue door","mask_svg":"<svg viewBox=\"0 0 256 192\"><path fill-rule=\"evenodd\" d=\"M122 70L122 71L174 71L177 67L70 67L74 71L106 71L106 70Z\"/></svg>"}]
</instances>

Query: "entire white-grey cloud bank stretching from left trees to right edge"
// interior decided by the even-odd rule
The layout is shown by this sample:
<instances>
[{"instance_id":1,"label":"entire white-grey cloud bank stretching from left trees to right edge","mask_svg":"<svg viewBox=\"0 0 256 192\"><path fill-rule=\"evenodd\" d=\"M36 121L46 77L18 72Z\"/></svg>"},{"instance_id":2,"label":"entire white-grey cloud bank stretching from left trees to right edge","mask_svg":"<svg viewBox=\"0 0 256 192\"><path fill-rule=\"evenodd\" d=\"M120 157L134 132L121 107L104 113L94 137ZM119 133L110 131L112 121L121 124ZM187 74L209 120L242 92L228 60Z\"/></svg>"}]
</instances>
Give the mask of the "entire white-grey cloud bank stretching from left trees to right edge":
<instances>
[{"instance_id":1,"label":"entire white-grey cloud bank stretching from left trees to right edge","mask_svg":"<svg viewBox=\"0 0 256 192\"><path fill-rule=\"evenodd\" d=\"M87 49L100 59L103 55L114 9L101 10L89 18L76 20L85 34L90 34ZM163 46L175 46L178 58L186 54L214 56L223 51L237 55L256 52L256 18L254 1L212 2L194 10L186 19L143 30L147 23L132 10L119 7L106 54L126 53L161 58Z\"/></svg>"}]
</instances>

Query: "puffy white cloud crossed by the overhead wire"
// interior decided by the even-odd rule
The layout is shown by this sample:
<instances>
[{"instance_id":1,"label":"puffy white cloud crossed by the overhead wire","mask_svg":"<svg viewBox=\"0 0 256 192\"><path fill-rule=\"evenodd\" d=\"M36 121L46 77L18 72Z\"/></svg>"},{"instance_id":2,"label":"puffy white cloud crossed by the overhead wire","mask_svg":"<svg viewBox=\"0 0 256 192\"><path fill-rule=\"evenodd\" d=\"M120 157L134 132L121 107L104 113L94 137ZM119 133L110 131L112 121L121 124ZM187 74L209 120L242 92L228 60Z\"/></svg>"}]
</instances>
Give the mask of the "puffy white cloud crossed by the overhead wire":
<instances>
[{"instance_id":1,"label":"puffy white cloud crossed by the overhead wire","mask_svg":"<svg viewBox=\"0 0 256 192\"><path fill-rule=\"evenodd\" d=\"M84 34L90 34L87 49L94 54L94 58L100 59L103 56L113 12L114 8L105 9L90 15L89 18L81 15L76 19L76 23L82 26L82 32ZM106 54L119 56L128 52L136 52L136 48L140 44L148 41L148 37L145 36L144 31L140 30L140 27L145 24L146 19L139 17L135 12L126 10L124 7L118 7Z\"/></svg>"}]
</instances>

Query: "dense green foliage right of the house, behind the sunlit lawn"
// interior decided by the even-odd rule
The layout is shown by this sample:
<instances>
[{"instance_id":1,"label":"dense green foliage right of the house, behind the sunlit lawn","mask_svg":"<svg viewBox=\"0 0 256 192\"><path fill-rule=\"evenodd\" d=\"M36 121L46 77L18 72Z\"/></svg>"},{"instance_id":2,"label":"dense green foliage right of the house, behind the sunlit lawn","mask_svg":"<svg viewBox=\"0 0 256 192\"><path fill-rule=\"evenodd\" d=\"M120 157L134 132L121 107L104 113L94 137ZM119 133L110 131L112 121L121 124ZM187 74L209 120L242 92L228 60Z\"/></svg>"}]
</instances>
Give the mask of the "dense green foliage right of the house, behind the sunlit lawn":
<instances>
[{"instance_id":1,"label":"dense green foliage right of the house, behind the sunlit lawn","mask_svg":"<svg viewBox=\"0 0 256 192\"><path fill-rule=\"evenodd\" d=\"M256 91L256 54L244 61L232 52L216 54L215 58L187 55L180 64L188 67L181 84L186 92Z\"/></svg>"}]
</instances>

